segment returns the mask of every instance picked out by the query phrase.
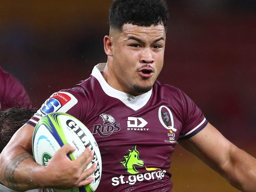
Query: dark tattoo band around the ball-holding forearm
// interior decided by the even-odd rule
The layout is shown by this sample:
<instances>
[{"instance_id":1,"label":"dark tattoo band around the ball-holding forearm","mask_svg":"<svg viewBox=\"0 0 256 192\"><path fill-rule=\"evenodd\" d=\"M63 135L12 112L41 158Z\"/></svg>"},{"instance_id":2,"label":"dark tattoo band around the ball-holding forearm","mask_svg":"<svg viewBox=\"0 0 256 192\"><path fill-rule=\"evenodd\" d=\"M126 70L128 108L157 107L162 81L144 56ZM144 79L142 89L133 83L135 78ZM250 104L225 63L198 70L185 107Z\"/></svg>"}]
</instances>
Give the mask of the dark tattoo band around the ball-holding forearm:
<instances>
[{"instance_id":1,"label":"dark tattoo band around the ball-holding forearm","mask_svg":"<svg viewBox=\"0 0 256 192\"><path fill-rule=\"evenodd\" d=\"M11 162L6 166L6 170L4 171L4 176L9 185L9 188L13 190L19 190L18 184L15 181L14 174L19 164L25 159L34 159L34 158L29 153L20 153L19 155L17 155L11 160Z\"/></svg>"}]
</instances>

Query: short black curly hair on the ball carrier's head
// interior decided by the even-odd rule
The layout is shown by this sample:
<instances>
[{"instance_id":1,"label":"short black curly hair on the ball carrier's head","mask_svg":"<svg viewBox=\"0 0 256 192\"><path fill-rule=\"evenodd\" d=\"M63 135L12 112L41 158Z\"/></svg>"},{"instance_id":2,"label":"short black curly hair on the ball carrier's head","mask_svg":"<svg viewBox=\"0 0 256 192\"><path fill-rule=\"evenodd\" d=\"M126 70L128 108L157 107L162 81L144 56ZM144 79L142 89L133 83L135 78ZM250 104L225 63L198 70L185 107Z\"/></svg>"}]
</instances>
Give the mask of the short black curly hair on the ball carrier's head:
<instances>
[{"instance_id":1,"label":"short black curly hair on the ball carrier's head","mask_svg":"<svg viewBox=\"0 0 256 192\"><path fill-rule=\"evenodd\" d=\"M163 23L166 30L168 18L165 0L113 0L109 9L109 26L119 30L126 23L147 27Z\"/></svg>"}]
</instances>

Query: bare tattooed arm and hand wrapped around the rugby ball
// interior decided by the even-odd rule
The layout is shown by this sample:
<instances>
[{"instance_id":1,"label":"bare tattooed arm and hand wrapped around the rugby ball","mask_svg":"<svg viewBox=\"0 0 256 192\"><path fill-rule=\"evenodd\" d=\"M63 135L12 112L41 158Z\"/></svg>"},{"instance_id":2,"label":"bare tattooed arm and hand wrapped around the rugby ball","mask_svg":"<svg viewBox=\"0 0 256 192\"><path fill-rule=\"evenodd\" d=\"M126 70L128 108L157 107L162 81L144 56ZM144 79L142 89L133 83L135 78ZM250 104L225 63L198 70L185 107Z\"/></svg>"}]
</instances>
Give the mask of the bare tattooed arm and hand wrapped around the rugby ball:
<instances>
[{"instance_id":1,"label":"bare tattooed arm and hand wrapped around the rugby ball","mask_svg":"<svg viewBox=\"0 0 256 192\"><path fill-rule=\"evenodd\" d=\"M74 151L74 148L66 144L56 152L47 166L37 164L32 156L33 130L34 127L28 124L22 126L0 154L1 183L13 190L28 190L68 189L93 181L92 178L85 178L94 172L95 165L83 172L93 158L89 148L78 159L71 161L66 154Z\"/></svg>"}]
</instances>

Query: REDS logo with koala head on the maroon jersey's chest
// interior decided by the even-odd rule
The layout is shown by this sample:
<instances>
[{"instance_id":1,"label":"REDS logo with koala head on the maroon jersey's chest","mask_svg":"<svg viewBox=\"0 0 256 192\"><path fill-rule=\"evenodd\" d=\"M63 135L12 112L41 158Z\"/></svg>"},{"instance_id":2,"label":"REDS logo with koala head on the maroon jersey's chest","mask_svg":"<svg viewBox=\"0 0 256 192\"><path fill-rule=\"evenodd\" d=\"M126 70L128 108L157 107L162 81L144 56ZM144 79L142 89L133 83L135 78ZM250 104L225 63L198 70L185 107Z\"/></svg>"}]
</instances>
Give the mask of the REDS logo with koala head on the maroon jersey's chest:
<instances>
[{"instance_id":1,"label":"REDS logo with koala head on the maroon jersey's chest","mask_svg":"<svg viewBox=\"0 0 256 192\"><path fill-rule=\"evenodd\" d=\"M101 137L108 137L114 132L120 131L120 123L116 123L115 119L109 114L100 114L103 120L103 125L93 125L93 135L98 133Z\"/></svg>"}]
</instances>

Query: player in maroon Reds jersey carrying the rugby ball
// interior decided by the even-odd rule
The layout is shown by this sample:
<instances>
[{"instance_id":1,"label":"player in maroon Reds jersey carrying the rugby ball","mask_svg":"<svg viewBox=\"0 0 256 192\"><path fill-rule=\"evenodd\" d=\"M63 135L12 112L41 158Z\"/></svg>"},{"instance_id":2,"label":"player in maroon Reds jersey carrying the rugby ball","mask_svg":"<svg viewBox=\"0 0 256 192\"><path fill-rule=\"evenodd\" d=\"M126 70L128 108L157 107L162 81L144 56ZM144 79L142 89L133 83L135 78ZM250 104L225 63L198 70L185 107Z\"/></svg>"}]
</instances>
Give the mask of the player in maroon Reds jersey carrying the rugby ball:
<instances>
[{"instance_id":1,"label":"player in maroon Reds jersey carrying the rugby ball","mask_svg":"<svg viewBox=\"0 0 256 192\"><path fill-rule=\"evenodd\" d=\"M167 18L164 0L114 0L104 37L107 63L96 65L74 88L52 94L14 135L0 156L0 181L15 190L92 182L88 177L96 165L83 172L93 158L88 150L70 161L66 154L72 148L66 144L47 166L31 156L34 126L45 114L60 111L80 119L98 143L102 178L96 191L169 192L177 142L236 188L256 191L256 159L224 138L184 92L156 81L163 66ZM28 158L20 165L14 162L24 155Z\"/></svg>"}]
</instances>

